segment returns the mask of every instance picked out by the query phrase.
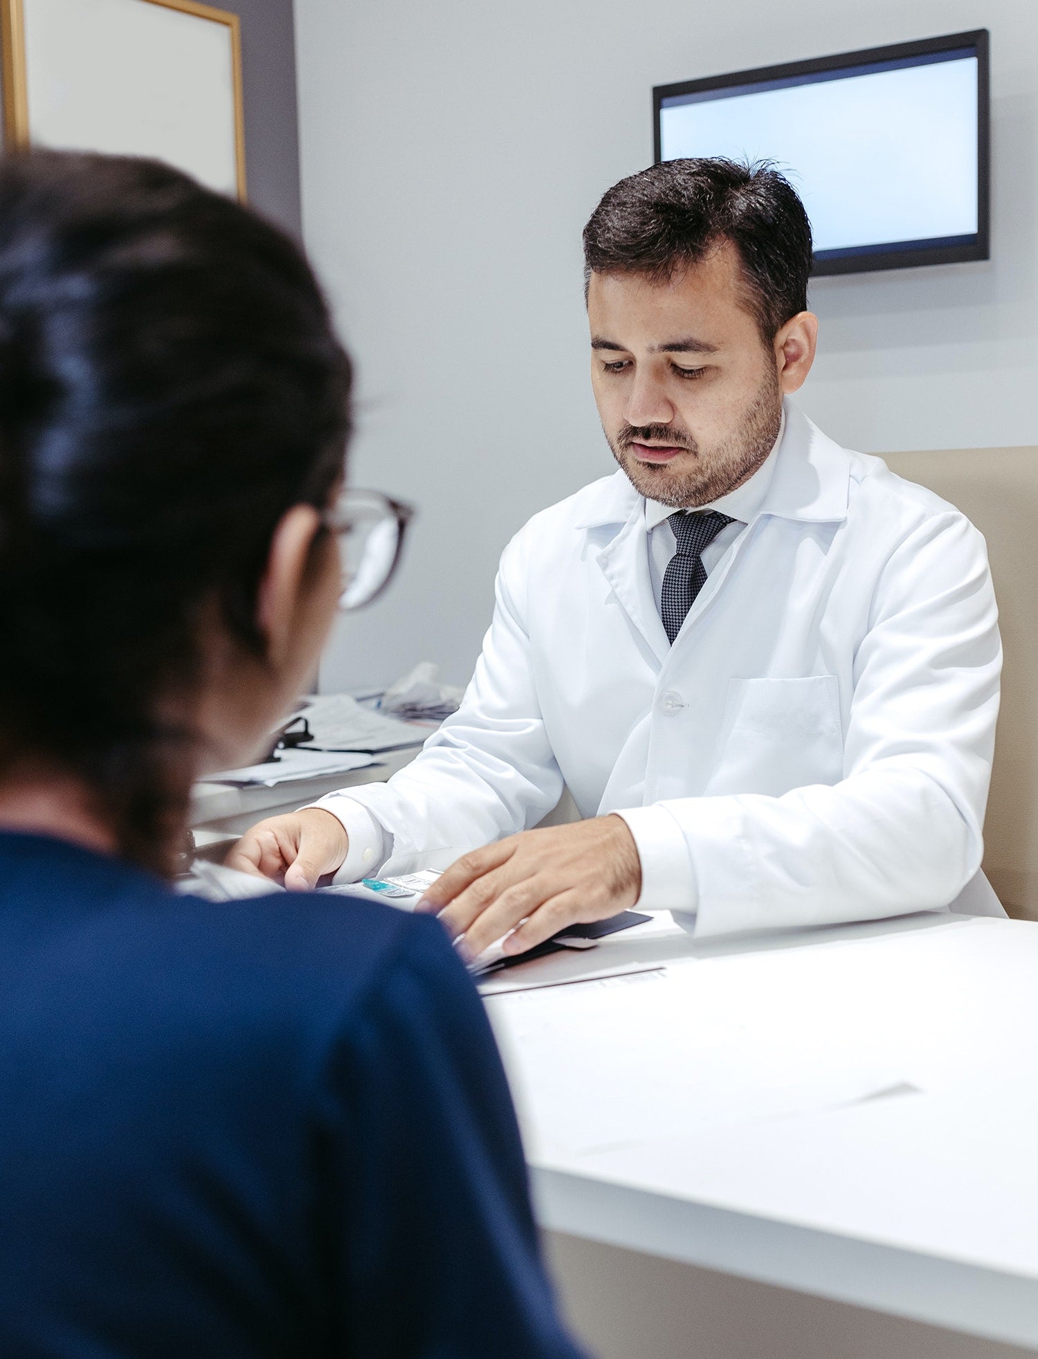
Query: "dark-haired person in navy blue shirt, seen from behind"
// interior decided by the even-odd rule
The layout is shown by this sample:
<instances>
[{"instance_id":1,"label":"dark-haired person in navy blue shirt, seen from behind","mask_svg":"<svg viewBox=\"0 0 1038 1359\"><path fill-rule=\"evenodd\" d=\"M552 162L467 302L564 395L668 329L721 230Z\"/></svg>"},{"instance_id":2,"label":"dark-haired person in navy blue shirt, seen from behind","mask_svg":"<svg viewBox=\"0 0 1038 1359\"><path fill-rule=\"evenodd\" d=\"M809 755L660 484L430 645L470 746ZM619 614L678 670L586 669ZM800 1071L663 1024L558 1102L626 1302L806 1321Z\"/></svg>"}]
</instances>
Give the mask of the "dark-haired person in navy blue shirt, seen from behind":
<instances>
[{"instance_id":1,"label":"dark-haired person in navy blue shirt, seen from behind","mask_svg":"<svg viewBox=\"0 0 1038 1359\"><path fill-rule=\"evenodd\" d=\"M572 1356L435 920L175 896L342 590L349 363L156 163L0 164L0 1354Z\"/></svg>"}]
</instances>

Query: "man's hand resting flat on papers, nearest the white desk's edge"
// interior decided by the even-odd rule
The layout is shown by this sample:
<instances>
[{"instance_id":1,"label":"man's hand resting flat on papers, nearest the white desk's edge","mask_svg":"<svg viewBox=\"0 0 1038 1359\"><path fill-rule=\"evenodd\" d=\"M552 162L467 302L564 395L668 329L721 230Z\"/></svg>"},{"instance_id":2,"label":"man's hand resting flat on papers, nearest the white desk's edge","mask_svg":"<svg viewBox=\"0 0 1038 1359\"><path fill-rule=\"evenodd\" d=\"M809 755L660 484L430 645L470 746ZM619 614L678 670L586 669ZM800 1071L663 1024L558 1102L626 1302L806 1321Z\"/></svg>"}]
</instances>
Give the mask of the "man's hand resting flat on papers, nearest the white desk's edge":
<instances>
[{"instance_id":1,"label":"man's hand resting flat on papers, nearest the white desk's edge","mask_svg":"<svg viewBox=\"0 0 1038 1359\"><path fill-rule=\"evenodd\" d=\"M474 958L501 935L507 954L543 943L558 930L605 920L633 906L641 860L622 817L595 817L509 836L463 855L416 909L437 913ZM516 928L518 927L518 928Z\"/></svg>"}]
</instances>

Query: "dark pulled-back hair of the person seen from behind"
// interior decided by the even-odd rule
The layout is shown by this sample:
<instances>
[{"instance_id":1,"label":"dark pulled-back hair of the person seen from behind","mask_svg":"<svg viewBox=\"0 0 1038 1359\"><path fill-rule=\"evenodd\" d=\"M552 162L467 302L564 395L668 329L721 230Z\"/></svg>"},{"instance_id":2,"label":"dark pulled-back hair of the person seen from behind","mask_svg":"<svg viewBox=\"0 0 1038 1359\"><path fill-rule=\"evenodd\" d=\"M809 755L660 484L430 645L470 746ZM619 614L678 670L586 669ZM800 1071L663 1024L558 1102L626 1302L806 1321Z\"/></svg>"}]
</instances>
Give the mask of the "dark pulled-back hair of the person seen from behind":
<instances>
[{"instance_id":1,"label":"dark pulled-back hair of the person seen from behind","mask_svg":"<svg viewBox=\"0 0 1038 1359\"><path fill-rule=\"evenodd\" d=\"M0 163L0 776L86 783L159 871L202 620L264 655L281 515L342 474L349 360L299 247L151 160Z\"/></svg>"}]
</instances>

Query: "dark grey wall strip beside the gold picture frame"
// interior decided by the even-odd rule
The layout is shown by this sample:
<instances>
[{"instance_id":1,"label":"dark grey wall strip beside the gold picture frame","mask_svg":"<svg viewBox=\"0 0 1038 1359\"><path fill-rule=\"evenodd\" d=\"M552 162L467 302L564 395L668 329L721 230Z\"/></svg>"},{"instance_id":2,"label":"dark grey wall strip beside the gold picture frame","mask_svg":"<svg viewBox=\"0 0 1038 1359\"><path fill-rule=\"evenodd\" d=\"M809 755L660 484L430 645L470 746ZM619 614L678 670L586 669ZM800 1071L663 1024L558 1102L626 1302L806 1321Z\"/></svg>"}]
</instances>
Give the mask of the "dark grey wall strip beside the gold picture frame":
<instances>
[{"instance_id":1,"label":"dark grey wall strip beside the gold picture frame","mask_svg":"<svg viewBox=\"0 0 1038 1359\"><path fill-rule=\"evenodd\" d=\"M245 154L249 201L300 234L292 0L216 0L242 20Z\"/></svg>"}]
</instances>

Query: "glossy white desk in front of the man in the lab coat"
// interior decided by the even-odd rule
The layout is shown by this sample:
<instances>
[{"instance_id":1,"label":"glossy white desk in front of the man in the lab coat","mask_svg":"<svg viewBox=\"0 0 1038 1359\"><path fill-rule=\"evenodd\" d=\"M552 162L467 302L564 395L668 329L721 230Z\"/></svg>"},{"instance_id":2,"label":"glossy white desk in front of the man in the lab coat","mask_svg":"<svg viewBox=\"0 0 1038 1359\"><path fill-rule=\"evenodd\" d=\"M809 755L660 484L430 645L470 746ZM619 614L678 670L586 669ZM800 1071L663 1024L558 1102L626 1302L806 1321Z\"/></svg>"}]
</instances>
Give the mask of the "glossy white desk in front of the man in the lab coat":
<instances>
[{"instance_id":1,"label":"glossy white desk in front of the man in the lab coat","mask_svg":"<svg viewBox=\"0 0 1038 1359\"><path fill-rule=\"evenodd\" d=\"M542 1226L1038 1347L1038 925L696 943L486 998Z\"/></svg>"}]
</instances>

